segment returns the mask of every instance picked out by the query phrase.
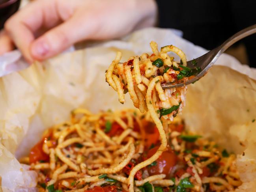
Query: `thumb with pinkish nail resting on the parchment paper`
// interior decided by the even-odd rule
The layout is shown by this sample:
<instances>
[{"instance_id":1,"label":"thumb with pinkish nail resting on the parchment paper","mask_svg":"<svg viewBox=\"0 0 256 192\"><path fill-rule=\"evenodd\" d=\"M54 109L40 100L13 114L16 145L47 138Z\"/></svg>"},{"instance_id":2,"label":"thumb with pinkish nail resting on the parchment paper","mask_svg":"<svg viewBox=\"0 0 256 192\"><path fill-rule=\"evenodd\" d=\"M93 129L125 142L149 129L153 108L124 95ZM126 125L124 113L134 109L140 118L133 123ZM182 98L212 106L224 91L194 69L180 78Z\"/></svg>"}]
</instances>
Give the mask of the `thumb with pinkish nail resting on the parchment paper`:
<instances>
[{"instance_id":1,"label":"thumb with pinkish nail resting on the parchment paper","mask_svg":"<svg viewBox=\"0 0 256 192\"><path fill-rule=\"evenodd\" d=\"M82 39L77 33L78 28L76 21L71 18L52 28L31 43L32 57L35 60L44 60L70 47Z\"/></svg>"}]
</instances>

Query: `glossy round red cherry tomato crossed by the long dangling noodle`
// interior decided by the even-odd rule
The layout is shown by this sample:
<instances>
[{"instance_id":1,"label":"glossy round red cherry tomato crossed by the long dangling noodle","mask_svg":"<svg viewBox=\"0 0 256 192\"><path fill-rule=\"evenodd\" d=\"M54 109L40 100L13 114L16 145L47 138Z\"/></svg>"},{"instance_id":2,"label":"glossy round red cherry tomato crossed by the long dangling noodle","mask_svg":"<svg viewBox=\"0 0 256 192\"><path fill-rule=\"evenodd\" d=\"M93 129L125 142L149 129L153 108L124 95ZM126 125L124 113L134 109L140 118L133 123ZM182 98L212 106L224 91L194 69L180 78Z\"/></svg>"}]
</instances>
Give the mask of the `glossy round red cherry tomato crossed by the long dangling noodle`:
<instances>
[{"instance_id":1,"label":"glossy round red cherry tomato crossed by the long dangling noodle","mask_svg":"<svg viewBox=\"0 0 256 192\"><path fill-rule=\"evenodd\" d=\"M150 158L156 152L159 146L156 146L148 151L147 157ZM172 149L168 148L167 151L164 151L162 155L156 160L156 165L148 166L148 173L149 175L156 175L156 174L166 174L169 175L172 168L177 163L177 156L175 155Z\"/></svg>"}]
</instances>

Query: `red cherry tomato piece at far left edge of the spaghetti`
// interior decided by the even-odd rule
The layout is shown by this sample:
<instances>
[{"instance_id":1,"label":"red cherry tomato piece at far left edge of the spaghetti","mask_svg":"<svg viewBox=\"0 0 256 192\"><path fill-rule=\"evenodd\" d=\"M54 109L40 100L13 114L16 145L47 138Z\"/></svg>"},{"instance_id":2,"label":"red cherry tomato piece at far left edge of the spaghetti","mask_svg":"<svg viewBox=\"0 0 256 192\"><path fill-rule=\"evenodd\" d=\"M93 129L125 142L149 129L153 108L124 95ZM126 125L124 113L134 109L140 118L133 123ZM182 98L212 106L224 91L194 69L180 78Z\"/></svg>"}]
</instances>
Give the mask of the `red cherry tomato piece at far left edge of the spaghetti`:
<instances>
[{"instance_id":1,"label":"red cherry tomato piece at far left edge of the spaghetti","mask_svg":"<svg viewBox=\"0 0 256 192\"><path fill-rule=\"evenodd\" d=\"M43 143L47 138L52 136L52 130L49 130L44 136L43 139L38 142L30 151L29 162L30 164L35 163L39 160L49 161L49 155L43 152Z\"/></svg>"}]
</instances>

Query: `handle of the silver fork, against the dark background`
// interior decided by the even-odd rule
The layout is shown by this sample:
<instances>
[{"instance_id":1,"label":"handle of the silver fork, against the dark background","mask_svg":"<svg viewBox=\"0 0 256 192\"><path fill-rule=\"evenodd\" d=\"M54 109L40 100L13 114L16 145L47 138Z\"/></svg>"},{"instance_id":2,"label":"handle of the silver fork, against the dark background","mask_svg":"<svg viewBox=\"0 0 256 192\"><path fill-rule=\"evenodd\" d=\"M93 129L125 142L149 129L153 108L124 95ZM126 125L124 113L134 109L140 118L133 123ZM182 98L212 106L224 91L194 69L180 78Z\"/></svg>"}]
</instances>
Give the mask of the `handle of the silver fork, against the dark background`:
<instances>
[{"instance_id":1,"label":"handle of the silver fork, against the dark background","mask_svg":"<svg viewBox=\"0 0 256 192\"><path fill-rule=\"evenodd\" d=\"M222 43L219 48L219 53L223 53L225 50L227 50L231 45L239 41L240 39L243 39L244 37L247 37L249 35L252 35L256 33L256 24L249 26L236 34L234 34L232 37L228 38L224 43Z\"/></svg>"}]
</instances>

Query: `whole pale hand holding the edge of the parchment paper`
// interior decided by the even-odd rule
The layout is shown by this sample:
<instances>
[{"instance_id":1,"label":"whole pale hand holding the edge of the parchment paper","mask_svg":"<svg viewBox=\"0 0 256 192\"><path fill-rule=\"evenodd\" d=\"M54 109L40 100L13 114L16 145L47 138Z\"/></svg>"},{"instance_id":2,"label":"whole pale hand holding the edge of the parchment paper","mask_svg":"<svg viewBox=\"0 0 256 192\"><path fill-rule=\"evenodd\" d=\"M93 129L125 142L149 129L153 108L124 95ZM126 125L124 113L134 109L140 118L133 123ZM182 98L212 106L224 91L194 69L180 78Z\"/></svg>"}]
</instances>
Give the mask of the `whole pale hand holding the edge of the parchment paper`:
<instances>
[{"instance_id":1,"label":"whole pale hand holding the edge of the parchment paper","mask_svg":"<svg viewBox=\"0 0 256 192\"><path fill-rule=\"evenodd\" d=\"M26 60L44 60L82 40L121 37L153 26L154 0L37 0L6 21L0 54L13 42Z\"/></svg>"}]
</instances>

